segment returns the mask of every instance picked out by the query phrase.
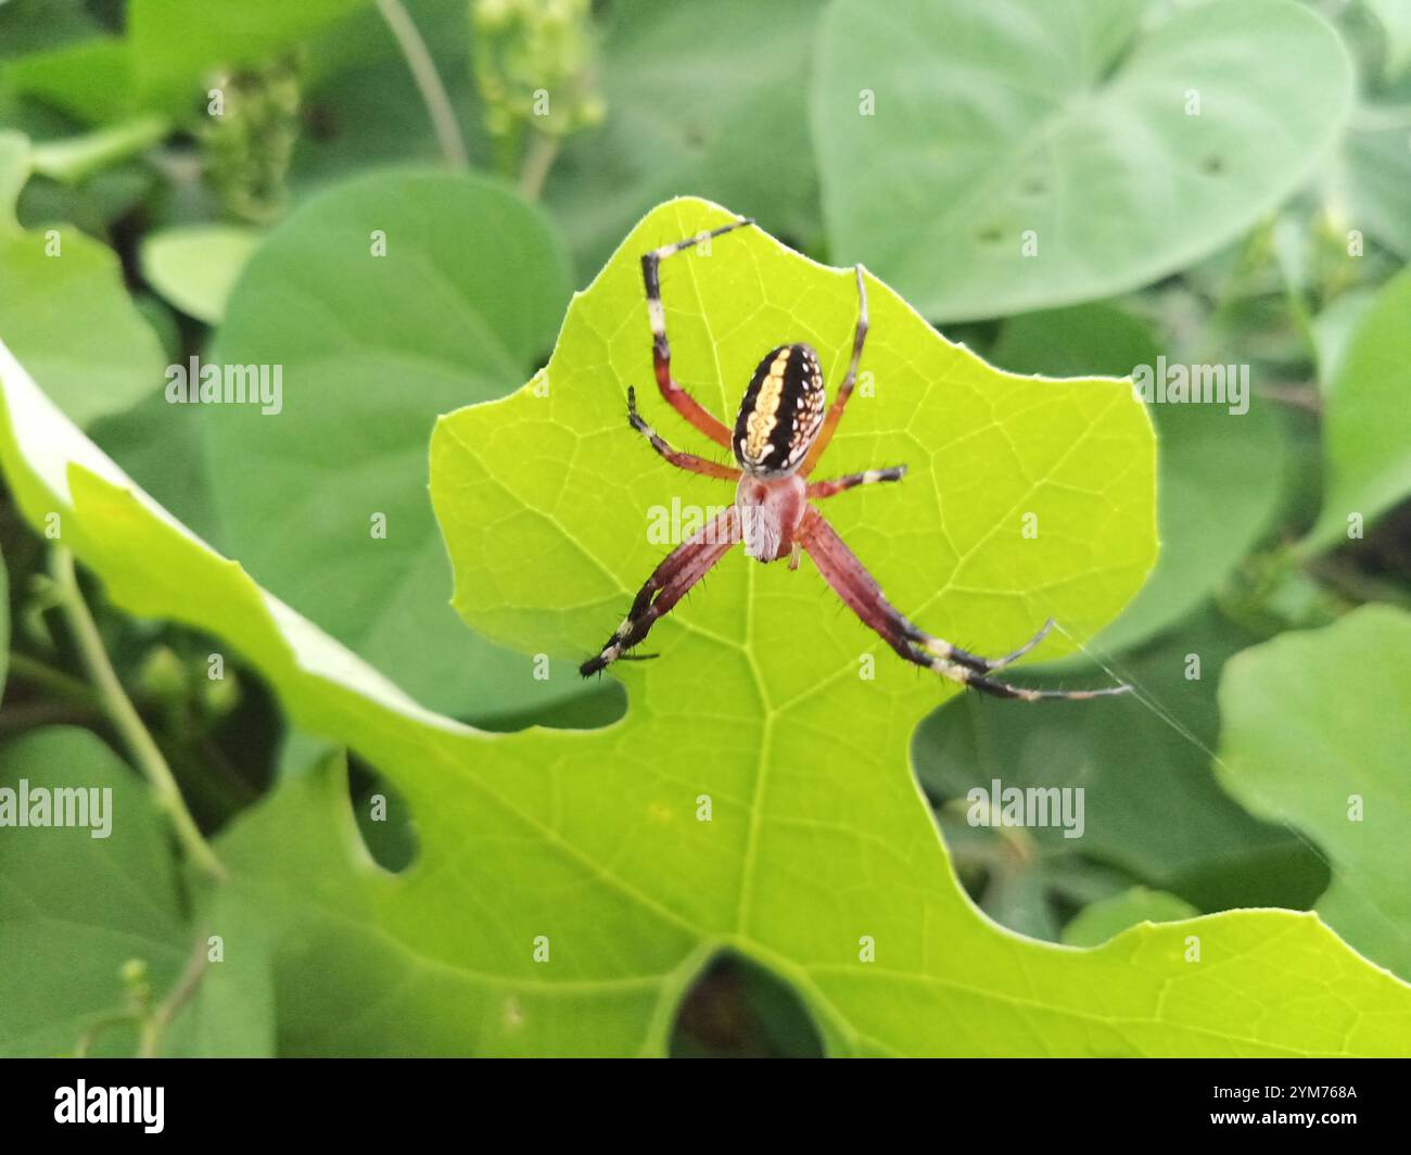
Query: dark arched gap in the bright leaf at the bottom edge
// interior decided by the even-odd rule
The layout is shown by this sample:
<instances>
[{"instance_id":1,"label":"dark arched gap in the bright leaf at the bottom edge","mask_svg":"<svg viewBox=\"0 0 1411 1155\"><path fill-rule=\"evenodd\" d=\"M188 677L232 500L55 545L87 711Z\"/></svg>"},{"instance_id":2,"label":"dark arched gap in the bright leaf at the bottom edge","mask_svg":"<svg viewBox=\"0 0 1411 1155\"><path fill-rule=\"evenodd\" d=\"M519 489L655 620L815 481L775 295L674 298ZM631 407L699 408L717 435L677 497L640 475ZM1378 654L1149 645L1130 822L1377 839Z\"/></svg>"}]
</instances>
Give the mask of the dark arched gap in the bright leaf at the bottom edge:
<instances>
[{"instance_id":1,"label":"dark arched gap in the bright leaf at the bottom edge","mask_svg":"<svg viewBox=\"0 0 1411 1155\"><path fill-rule=\"evenodd\" d=\"M673 1059L818 1059L823 1038L793 987L738 954L722 953L682 1000Z\"/></svg>"}]
</instances>

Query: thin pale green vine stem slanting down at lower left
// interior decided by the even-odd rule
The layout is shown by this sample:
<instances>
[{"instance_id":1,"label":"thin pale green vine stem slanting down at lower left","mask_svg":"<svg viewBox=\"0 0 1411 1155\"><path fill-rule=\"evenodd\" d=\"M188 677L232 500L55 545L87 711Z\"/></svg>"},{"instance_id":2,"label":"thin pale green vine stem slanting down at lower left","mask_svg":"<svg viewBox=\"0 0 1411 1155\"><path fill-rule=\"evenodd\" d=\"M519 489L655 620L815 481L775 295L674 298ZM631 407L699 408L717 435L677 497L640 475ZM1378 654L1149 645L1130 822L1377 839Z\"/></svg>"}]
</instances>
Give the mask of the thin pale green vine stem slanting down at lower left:
<instances>
[{"instance_id":1,"label":"thin pale green vine stem slanting down at lower left","mask_svg":"<svg viewBox=\"0 0 1411 1155\"><path fill-rule=\"evenodd\" d=\"M73 555L62 545L54 549L49 572L54 575L62 597L61 604L65 617L69 621L69 628L73 631L73 640L83 657L83 665L93 681L93 688L97 690L103 713L107 714L114 729L123 736L123 741L137 762L137 768L147 778L152 792L157 795L158 805L171 819L176 830L176 840L182 844L182 849L206 874L223 881L226 878L226 868L220 864L220 858L216 857L216 851L200 836L196 820L190 816L190 810L186 809L186 802L181 796L181 789L172 777L166 758L162 757L162 751L143 724L137 707L123 690L123 683L117 679L113 664L107 658L107 651L103 648L103 638L99 635L93 614L89 613L83 593L79 590L78 575L73 570Z\"/></svg>"}]
</instances>

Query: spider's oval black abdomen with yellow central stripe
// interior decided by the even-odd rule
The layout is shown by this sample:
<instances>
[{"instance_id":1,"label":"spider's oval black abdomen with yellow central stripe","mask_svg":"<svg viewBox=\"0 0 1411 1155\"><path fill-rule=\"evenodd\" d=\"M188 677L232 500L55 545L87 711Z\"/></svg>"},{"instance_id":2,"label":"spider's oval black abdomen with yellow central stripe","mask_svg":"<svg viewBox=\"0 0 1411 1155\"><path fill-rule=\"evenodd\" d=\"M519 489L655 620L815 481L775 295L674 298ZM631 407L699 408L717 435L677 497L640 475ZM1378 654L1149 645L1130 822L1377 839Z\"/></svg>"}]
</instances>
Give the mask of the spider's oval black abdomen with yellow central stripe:
<instances>
[{"instance_id":1,"label":"spider's oval black abdomen with yellow central stripe","mask_svg":"<svg viewBox=\"0 0 1411 1155\"><path fill-rule=\"evenodd\" d=\"M793 473L818 438L824 408L818 354L807 345L772 349L739 402L735 460L756 477Z\"/></svg>"}]
</instances>

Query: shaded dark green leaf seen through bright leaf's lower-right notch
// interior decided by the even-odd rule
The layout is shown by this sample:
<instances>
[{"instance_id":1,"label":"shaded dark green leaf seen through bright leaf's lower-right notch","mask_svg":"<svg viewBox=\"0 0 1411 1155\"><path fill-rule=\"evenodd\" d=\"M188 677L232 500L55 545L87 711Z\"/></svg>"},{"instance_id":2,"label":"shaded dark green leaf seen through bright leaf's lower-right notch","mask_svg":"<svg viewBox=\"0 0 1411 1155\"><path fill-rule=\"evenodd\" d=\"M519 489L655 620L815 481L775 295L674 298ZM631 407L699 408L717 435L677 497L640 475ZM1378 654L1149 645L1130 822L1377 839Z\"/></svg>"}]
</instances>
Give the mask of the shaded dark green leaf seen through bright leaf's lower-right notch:
<instances>
[{"instance_id":1,"label":"shaded dark green leaf seen through bright leaf's lower-right notch","mask_svg":"<svg viewBox=\"0 0 1411 1155\"><path fill-rule=\"evenodd\" d=\"M912 747L917 778L944 799L988 792L996 778L1020 789L1081 786L1082 836L1026 830L1036 853L1010 871L1034 874L1050 891L1061 887L1055 871L1081 854L1205 911L1305 909L1328 885L1322 863L1290 832L1250 818L1211 774L1216 679L1252 641L1206 609L1118 664L1136 693L1101 710L1015 713L962 698L921 723ZM1074 676L1041 683L1074 685ZM982 899L1000 919L989 895Z\"/></svg>"}]
</instances>

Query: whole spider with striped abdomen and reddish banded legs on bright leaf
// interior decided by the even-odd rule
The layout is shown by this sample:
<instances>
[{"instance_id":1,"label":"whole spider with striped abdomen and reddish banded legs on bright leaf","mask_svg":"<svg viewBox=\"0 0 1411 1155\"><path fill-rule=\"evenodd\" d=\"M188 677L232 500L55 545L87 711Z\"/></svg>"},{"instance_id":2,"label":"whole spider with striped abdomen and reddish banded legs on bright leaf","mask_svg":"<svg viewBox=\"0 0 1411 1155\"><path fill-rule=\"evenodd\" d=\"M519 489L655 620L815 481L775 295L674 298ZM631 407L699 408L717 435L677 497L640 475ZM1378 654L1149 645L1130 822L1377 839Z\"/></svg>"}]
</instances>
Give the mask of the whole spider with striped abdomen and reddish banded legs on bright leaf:
<instances>
[{"instance_id":1,"label":"whole spider with striped abdomen and reddish banded legs on bright leaf","mask_svg":"<svg viewBox=\"0 0 1411 1155\"><path fill-rule=\"evenodd\" d=\"M579 672L587 678L615 661L648 657L628 651L646 637L659 618L672 611L715 562L742 542L748 556L759 562L787 558L789 569L797 569L800 553L807 552L844 604L899 657L962 686L1024 702L1088 699L1127 690L1127 686L1094 690L1027 689L993 679L992 674L1022 658L1048 635L1053 618L1022 647L1002 658L982 658L933 637L913 626L886 600L872 575L813 504L858 486L900 481L906 474L906 466L890 466L825 481L807 480L828 448L856 383L862 343L868 335L868 294L862 265L856 265L858 322L852 335L852 359L831 405L824 404L818 354L807 345L780 345L765 354L749 378L734 431L725 428L672 378L660 263L683 249L752 223L748 217L732 220L708 233L653 249L642 257L642 281L652 323L652 363L662 397L707 438L729 449L738 467L673 449L642 419L636 409L636 391L631 387L626 393L628 421L650 442L652 449L677 469L735 481L735 500L652 570L622 624L595 657L579 666Z\"/></svg>"}]
</instances>

